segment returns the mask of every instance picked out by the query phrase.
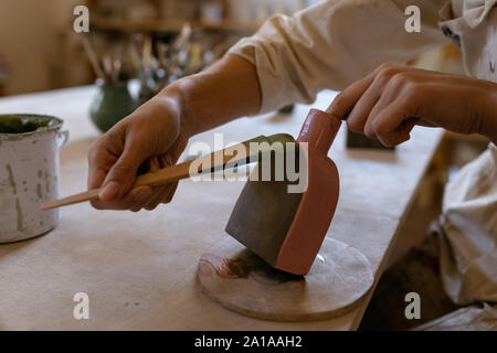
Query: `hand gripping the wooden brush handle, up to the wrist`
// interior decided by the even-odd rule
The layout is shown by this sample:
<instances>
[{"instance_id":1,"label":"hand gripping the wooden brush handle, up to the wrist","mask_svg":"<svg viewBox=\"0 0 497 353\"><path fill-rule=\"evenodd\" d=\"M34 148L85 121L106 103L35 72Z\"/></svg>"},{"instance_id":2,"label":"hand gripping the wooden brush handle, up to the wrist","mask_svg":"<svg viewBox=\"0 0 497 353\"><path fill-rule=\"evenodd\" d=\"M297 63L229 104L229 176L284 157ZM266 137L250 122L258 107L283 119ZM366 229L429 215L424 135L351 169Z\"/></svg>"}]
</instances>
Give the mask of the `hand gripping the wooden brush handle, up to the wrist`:
<instances>
[{"instance_id":1,"label":"hand gripping the wooden brush handle, up to the wrist","mask_svg":"<svg viewBox=\"0 0 497 353\"><path fill-rule=\"evenodd\" d=\"M169 203L176 184L133 188L138 169L176 164L189 135L179 98L162 92L98 138L88 151L88 190L102 188L97 210L154 210Z\"/></svg>"}]
</instances>

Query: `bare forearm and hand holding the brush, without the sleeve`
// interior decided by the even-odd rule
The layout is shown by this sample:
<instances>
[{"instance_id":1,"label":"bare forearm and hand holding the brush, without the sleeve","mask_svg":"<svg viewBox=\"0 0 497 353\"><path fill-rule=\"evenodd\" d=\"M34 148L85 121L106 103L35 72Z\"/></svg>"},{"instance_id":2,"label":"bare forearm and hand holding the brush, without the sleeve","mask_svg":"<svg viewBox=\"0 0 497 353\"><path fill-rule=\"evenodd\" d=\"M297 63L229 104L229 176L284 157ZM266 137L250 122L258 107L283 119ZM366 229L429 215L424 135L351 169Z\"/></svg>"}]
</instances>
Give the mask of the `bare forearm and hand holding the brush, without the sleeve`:
<instances>
[{"instance_id":1,"label":"bare forearm and hand holding the brush, without the sleeve","mask_svg":"<svg viewBox=\"0 0 497 353\"><path fill-rule=\"evenodd\" d=\"M177 184L130 190L140 164L175 164L191 136L255 114L260 101L255 67L235 55L165 88L92 145L88 189L103 186L93 206L138 212L170 202Z\"/></svg>"}]
</instances>

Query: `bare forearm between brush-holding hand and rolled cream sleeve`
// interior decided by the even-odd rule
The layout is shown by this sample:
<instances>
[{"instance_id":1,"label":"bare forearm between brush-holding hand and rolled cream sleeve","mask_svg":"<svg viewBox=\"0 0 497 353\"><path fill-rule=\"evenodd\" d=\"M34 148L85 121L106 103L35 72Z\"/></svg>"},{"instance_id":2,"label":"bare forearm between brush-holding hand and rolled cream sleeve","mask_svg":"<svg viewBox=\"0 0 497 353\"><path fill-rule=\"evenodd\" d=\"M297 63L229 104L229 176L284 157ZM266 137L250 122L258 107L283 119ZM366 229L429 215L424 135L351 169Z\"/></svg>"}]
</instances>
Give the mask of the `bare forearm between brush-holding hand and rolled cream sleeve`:
<instances>
[{"instance_id":1,"label":"bare forearm between brush-holding hand and rolled cream sleeve","mask_svg":"<svg viewBox=\"0 0 497 353\"><path fill-rule=\"evenodd\" d=\"M176 82L160 96L178 104L181 128L189 137L254 115L261 106L255 66L236 55L226 55L205 71Z\"/></svg>"}]
</instances>

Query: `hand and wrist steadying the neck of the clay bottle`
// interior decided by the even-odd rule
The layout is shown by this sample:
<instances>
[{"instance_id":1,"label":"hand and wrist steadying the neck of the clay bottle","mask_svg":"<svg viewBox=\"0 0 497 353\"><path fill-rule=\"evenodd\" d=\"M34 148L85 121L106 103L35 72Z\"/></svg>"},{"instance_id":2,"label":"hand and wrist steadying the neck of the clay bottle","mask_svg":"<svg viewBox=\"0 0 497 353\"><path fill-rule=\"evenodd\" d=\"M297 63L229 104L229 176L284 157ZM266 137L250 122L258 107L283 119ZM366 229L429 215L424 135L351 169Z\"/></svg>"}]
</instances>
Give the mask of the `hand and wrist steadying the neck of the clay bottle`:
<instances>
[{"instance_id":1,"label":"hand and wrist steadying the neck of the clay bottle","mask_svg":"<svg viewBox=\"0 0 497 353\"><path fill-rule=\"evenodd\" d=\"M388 147L409 140L415 125L480 133L495 142L497 84L383 64L341 92L327 111Z\"/></svg>"}]
</instances>

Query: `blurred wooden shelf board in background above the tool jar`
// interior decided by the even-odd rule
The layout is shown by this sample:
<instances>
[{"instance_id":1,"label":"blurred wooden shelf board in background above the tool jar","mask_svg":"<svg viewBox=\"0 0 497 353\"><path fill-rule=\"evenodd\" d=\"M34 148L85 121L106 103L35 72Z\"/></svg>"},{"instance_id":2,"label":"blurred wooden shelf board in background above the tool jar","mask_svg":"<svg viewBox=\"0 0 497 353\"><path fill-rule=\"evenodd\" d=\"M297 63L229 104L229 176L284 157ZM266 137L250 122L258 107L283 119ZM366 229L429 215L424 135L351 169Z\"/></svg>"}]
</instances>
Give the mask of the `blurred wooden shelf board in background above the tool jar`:
<instances>
[{"instance_id":1,"label":"blurred wooden shelf board in background above the tool jar","mask_svg":"<svg viewBox=\"0 0 497 353\"><path fill-rule=\"evenodd\" d=\"M89 24L95 30L120 31L120 32L179 32L186 21L178 20L147 20L127 21L121 19L91 18ZM255 32L258 23L237 23L223 21L221 23L209 23L203 21L189 21L193 29L214 31L239 31Z\"/></svg>"}]
</instances>

